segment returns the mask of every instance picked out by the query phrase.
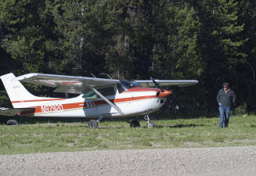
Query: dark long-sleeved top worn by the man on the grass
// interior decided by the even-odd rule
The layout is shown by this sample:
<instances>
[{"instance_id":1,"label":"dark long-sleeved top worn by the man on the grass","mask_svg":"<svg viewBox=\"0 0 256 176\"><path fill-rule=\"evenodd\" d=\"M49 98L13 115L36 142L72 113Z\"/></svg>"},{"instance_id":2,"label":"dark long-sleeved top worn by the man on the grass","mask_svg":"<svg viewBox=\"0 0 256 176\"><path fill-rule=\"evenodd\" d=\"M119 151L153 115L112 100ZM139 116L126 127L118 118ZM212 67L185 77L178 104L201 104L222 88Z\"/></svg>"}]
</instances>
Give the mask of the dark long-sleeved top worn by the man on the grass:
<instances>
[{"instance_id":1,"label":"dark long-sleeved top worn by the man on the grass","mask_svg":"<svg viewBox=\"0 0 256 176\"><path fill-rule=\"evenodd\" d=\"M229 91L225 93L224 89L221 88L218 91L217 102L222 103L224 106L232 106L236 102L236 94L229 88Z\"/></svg>"}]
</instances>

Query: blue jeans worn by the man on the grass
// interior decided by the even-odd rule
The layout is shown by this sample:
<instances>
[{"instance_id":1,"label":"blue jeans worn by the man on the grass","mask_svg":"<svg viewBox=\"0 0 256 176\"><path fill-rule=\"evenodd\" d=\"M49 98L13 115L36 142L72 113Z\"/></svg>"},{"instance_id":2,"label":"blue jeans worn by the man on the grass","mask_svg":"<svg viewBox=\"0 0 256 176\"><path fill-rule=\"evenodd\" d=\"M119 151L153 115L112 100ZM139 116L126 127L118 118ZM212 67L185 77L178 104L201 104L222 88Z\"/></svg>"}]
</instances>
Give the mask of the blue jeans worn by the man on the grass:
<instances>
[{"instance_id":1,"label":"blue jeans worn by the man on the grass","mask_svg":"<svg viewBox=\"0 0 256 176\"><path fill-rule=\"evenodd\" d=\"M219 111L219 127L226 128L229 126L229 113L230 113L231 106L218 106ZM225 118L224 118L225 117Z\"/></svg>"}]
</instances>

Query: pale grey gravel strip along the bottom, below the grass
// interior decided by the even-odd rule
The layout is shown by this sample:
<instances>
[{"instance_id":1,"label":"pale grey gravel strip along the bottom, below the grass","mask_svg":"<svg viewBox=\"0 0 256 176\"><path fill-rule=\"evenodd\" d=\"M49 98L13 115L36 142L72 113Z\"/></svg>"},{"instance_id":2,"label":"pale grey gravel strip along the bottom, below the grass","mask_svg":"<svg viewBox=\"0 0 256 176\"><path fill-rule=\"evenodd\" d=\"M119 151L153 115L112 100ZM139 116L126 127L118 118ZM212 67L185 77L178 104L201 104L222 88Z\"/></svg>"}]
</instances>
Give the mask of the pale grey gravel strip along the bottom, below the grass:
<instances>
[{"instance_id":1,"label":"pale grey gravel strip along the bottom, below the grass","mask_svg":"<svg viewBox=\"0 0 256 176\"><path fill-rule=\"evenodd\" d=\"M0 175L256 175L256 146L0 156Z\"/></svg>"}]
</instances>

